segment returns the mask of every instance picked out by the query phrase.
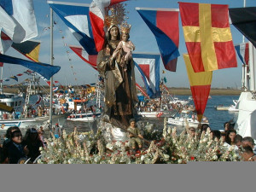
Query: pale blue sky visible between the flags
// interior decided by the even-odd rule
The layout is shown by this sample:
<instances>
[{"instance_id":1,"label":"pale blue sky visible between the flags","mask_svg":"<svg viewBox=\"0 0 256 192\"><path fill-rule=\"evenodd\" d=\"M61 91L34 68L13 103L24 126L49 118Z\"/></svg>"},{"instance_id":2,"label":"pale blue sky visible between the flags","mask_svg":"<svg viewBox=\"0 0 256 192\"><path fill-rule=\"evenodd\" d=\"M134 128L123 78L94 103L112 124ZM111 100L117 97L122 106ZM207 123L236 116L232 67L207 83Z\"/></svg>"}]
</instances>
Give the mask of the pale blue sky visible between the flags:
<instances>
[{"instance_id":1,"label":"pale blue sky visible between the flags","mask_svg":"<svg viewBox=\"0 0 256 192\"><path fill-rule=\"evenodd\" d=\"M61 2L71 3L90 3L91 0L59 0ZM229 4L230 8L243 7L243 0L131 0L126 2L126 9L130 12L128 22L131 24L131 41L136 45L136 51L159 53L158 46L156 44L154 35L145 25L143 19L138 15L135 7L143 8L175 8L178 9L177 2L189 2L189 3L216 3L216 4ZM247 0L247 7L255 7L256 0ZM46 0L34 0L35 14L38 23L38 38L41 41L41 50L39 55L39 61L49 63L49 30L44 31L44 27L49 26L49 5ZM75 55L71 49L65 47L64 44L79 45L73 35L67 29L67 26L63 24L60 18L54 15L54 20L57 25L54 32L54 65L61 66L61 70L54 77L54 80L58 80L61 84L90 84L96 81L97 72L89 67L79 56ZM241 33L236 30L234 26L230 26L234 44L240 44L242 41ZM60 32L61 30L61 32ZM187 52L181 21L179 18L179 52L182 55ZM64 39L61 37L65 37ZM247 41L247 39L246 39ZM9 49L6 53L20 58L25 58L20 55L14 49ZM71 61L69 61L69 59ZM241 61L238 60L238 67L221 69L213 72L212 87L225 88L241 87ZM160 72L164 67L160 66ZM9 78L17 73L26 71L25 67L19 67L15 65L4 65L3 78ZM178 57L177 60L177 72L168 72L160 74L160 77L166 77L167 85L172 87L189 87L189 79L187 76L186 68L184 65L183 57ZM22 79L27 77L21 77ZM143 85L142 79L137 74L137 82ZM12 81L12 80L11 80ZM9 84L15 82L9 82ZM42 83L45 84L45 83Z\"/></svg>"}]
</instances>

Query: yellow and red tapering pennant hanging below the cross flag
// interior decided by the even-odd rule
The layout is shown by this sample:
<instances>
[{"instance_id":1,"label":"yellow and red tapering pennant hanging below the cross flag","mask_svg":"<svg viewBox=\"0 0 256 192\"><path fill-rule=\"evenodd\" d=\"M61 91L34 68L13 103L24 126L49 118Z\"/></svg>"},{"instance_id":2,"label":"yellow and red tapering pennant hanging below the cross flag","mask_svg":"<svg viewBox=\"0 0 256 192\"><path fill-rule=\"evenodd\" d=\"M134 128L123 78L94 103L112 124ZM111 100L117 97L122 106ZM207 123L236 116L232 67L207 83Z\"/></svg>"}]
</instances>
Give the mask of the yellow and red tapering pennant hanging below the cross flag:
<instances>
[{"instance_id":1,"label":"yellow and red tapering pennant hanging below the cross flag","mask_svg":"<svg viewBox=\"0 0 256 192\"><path fill-rule=\"evenodd\" d=\"M189 77L190 90L195 102L195 109L199 122L207 107L208 96L212 84L212 72L195 73L191 65L189 55L183 55Z\"/></svg>"}]
</instances>

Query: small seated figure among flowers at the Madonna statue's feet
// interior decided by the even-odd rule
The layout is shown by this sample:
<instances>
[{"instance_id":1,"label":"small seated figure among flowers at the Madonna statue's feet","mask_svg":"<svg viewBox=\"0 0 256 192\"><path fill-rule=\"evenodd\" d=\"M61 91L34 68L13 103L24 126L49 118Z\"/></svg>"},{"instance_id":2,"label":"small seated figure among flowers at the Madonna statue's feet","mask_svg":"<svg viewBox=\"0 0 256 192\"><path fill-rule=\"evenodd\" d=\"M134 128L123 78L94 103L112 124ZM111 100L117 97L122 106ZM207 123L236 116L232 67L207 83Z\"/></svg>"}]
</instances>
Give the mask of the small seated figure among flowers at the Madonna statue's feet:
<instances>
[{"instance_id":1,"label":"small seated figure among flowers at the Madonna statue's feet","mask_svg":"<svg viewBox=\"0 0 256 192\"><path fill-rule=\"evenodd\" d=\"M135 119L130 119L130 126L128 127L127 131L129 131L130 143L133 153L136 151L136 143L140 149L143 148L143 143L141 140L143 136L141 131L136 126Z\"/></svg>"}]
</instances>

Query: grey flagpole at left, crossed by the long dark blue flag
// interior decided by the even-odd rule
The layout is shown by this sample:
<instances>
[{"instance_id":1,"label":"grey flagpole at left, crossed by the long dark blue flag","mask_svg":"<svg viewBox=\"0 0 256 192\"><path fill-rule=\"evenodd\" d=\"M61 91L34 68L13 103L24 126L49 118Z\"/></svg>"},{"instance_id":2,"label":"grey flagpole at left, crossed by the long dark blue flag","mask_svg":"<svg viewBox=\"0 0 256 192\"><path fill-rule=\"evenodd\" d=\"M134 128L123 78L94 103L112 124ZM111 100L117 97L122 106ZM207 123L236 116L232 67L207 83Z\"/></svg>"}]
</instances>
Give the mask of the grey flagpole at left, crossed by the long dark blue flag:
<instances>
[{"instance_id":1,"label":"grey flagpole at left, crossed by the long dark blue flag","mask_svg":"<svg viewBox=\"0 0 256 192\"><path fill-rule=\"evenodd\" d=\"M50 55L50 65L53 66L53 10L49 8L49 22L50 22L50 45L49 45L49 55ZM53 101L53 76L50 78L49 84L49 127L52 129L52 101Z\"/></svg>"}]
</instances>

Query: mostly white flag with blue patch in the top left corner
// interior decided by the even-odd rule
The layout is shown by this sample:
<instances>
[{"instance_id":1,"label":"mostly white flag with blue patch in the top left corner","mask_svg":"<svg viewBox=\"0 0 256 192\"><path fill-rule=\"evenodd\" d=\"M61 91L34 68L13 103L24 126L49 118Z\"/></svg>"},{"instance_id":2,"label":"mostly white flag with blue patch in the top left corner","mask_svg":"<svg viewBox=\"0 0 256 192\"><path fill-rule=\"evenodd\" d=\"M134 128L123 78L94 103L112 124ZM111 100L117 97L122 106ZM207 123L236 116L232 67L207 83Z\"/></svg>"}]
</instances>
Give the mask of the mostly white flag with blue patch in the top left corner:
<instances>
[{"instance_id":1,"label":"mostly white flag with blue patch in the top left corner","mask_svg":"<svg viewBox=\"0 0 256 192\"><path fill-rule=\"evenodd\" d=\"M32 0L0 0L0 28L15 43L38 36Z\"/></svg>"}]
</instances>

